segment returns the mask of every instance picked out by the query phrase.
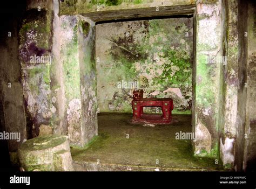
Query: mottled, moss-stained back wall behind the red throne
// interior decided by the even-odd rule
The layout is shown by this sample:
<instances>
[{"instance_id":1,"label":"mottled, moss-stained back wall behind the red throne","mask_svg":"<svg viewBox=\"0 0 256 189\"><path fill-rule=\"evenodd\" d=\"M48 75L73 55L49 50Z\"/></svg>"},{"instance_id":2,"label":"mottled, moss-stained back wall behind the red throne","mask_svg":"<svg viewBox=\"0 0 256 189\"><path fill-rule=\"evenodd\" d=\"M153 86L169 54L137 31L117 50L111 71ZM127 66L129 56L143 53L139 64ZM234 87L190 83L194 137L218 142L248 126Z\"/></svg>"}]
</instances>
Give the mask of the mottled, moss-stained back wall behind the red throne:
<instances>
[{"instance_id":1,"label":"mottled, moss-stained back wall behind the red throne","mask_svg":"<svg viewBox=\"0 0 256 189\"><path fill-rule=\"evenodd\" d=\"M100 112L131 112L134 88L143 89L144 97L172 97L174 111L190 111L192 37L192 18L97 25Z\"/></svg>"}]
</instances>

